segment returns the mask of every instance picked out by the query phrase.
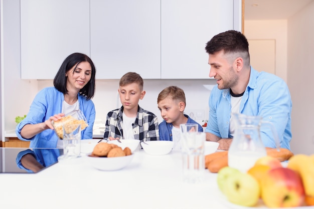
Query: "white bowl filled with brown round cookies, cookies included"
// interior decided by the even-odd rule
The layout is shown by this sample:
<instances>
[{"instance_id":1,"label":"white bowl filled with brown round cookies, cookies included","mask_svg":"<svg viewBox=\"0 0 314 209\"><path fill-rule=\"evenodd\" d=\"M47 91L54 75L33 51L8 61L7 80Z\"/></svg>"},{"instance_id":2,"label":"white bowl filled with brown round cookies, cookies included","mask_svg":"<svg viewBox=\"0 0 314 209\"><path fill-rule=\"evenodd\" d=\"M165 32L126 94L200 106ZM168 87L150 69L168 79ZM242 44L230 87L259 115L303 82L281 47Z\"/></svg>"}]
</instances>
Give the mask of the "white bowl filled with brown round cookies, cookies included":
<instances>
[{"instance_id":1,"label":"white bowl filled with brown round cookies, cookies included","mask_svg":"<svg viewBox=\"0 0 314 209\"><path fill-rule=\"evenodd\" d=\"M134 154L131 149L122 149L116 144L99 142L92 152L86 154L86 162L98 170L110 171L126 167L132 160Z\"/></svg>"}]
</instances>

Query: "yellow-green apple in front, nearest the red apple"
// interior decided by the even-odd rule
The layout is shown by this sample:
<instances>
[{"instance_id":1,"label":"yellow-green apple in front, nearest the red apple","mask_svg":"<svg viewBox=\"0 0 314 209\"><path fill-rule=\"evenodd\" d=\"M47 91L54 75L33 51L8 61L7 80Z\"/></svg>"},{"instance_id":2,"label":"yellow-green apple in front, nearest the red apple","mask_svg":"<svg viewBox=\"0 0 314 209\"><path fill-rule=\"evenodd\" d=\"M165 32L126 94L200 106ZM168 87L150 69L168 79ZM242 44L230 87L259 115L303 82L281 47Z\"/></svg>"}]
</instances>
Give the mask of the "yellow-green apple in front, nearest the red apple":
<instances>
[{"instance_id":1,"label":"yellow-green apple in front, nearest the red apple","mask_svg":"<svg viewBox=\"0 0 314 209\"><path fill-rule=\"evenodd\" d=\"M244 172L229 176L224 190L230 202L243 206L256 205L260 196L260 186L257 180Z\"/></svg>"}]
</instances>

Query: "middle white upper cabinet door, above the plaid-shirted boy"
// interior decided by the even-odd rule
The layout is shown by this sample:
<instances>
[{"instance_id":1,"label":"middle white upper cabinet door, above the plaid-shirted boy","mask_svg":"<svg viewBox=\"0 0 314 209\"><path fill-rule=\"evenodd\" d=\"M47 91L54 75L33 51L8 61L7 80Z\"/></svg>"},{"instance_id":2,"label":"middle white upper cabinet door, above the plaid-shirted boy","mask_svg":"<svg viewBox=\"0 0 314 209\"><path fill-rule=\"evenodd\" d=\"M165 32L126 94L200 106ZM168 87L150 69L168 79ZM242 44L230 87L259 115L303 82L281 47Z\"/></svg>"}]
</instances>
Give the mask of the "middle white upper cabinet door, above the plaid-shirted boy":
<instances>
[{"instance_id":1,"label":"middle white upper cabinet door, above the plaid-shirted boy","mask_svg":"<svg viewBox=\"0 0 314 209\"><path fill-rule=\"evenodd\" d=\"M160 0L90 0L97 79L119 79L128 71L161 78L160 10Z\"/></svg>"}]
</instances>

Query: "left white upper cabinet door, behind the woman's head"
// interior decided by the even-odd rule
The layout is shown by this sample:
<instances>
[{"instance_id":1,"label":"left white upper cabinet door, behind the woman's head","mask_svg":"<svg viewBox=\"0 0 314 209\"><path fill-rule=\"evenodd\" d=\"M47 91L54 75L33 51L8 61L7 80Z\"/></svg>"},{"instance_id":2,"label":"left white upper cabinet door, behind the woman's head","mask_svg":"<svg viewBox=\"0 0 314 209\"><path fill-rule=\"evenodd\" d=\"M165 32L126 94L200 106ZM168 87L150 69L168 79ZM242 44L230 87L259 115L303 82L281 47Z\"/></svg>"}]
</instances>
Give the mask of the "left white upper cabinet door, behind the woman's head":
<instances>
[{"instance_id":1,"label":"left white upper cabinet door, behind the woman's head","mask_svg":"<svg viewBox=\"0 0 314 209\"><path fill-rule=\"evenodd\" d=\"M74 52L90 55L89 0L21 0L21 77L53 79Z\"/></svg>"}]
</instances>

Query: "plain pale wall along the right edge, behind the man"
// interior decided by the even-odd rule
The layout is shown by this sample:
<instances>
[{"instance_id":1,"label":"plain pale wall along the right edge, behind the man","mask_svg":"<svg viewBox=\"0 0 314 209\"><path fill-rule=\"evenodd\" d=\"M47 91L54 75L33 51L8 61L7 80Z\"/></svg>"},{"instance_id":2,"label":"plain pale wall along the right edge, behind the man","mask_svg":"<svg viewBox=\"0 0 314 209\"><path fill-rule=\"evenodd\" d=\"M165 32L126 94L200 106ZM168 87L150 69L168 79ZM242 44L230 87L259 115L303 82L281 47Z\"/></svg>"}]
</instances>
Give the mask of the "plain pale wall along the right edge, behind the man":
<instances>
[{"instance_id":1,"label":"plain pale wall along the right edge, behind the man","mask_svg":"<svg viewBox=\"0 0 314 209\"><path fill-rule=\"evenodd\" d=\"M295 153L314 153L314 1L288 19L287 79Z\"/></svg>"}]
</instances>

